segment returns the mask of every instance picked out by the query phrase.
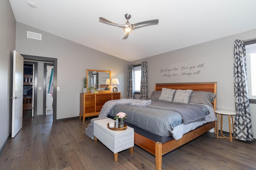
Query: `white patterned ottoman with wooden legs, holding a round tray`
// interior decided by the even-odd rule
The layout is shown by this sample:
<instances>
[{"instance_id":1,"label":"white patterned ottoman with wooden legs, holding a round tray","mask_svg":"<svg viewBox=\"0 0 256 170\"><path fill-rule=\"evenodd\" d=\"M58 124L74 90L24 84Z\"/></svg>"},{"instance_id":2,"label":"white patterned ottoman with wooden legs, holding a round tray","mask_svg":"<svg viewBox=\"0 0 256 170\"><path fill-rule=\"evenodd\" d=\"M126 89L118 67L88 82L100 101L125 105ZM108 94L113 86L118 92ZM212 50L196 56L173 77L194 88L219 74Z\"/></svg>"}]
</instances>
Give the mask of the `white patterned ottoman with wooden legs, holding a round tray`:
<instances>
[{"instance_id":1,"label":"white patterned ottoman with wooden legs, holding a round tray","mask_svg":"<svg viewBox=\"0 0 256 170\"><path fill-rule=\"evenodd\" d=\"M113 119L102 119L94 121L94 139L100 140L114 153L115 162L118 160L118 152L129 149L133 154L134 129L127 127L126 130L116 131L108 128L108 123Z\"/></svg>"}]
</instances>

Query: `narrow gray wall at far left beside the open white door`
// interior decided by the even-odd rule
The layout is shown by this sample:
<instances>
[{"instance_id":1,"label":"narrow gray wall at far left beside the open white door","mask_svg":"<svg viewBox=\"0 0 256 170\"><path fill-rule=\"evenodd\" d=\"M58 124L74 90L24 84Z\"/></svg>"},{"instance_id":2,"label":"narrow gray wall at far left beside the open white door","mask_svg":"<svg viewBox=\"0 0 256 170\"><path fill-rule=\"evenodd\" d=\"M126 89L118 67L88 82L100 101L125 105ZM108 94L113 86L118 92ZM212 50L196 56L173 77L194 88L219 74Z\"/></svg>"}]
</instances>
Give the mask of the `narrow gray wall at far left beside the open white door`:
<instances>
[{"instance_id":1,"label":"narrow gray wall at far left beside the open white door","mask_svg":"<svg viewBox=\"0 0 256 170\"><path fill-rule=\"evenodd\" d=\"M15 25L9 0L0 1L0 148L11 132L12 56L15 50Z\"/></svg>"}]
</instances>

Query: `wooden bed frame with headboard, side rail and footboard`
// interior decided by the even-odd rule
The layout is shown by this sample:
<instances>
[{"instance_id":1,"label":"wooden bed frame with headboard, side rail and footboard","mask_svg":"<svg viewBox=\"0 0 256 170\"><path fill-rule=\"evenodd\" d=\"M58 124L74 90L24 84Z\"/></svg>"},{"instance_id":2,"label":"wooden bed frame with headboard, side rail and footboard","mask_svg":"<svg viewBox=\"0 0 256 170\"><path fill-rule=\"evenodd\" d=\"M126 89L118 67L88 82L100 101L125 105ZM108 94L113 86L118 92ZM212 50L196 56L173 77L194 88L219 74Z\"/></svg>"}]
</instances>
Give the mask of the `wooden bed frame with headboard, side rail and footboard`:
<instances>
[{"instance_id":1,"label":"wooden bed frame with headboard, side rail and footboard","mask_svg":"<svg viewBox=\"0 0 256 170\"><path fill-rule=\"evenodd\" d=\"M155 91L161 91L162 88L168 89L192 89L194 91L210 91L216 94L217 83L207 82L207 83L157 83L155 85ZM216 98L212 103L214 111L216 110ZM208 130L214 128L216 133L216 121L207 123L195 130L184 134L179 140L170 140L165 143L154 142L138 133L134 133L134 144L144 148L156 157L156 169L160 170L162 168L162 155L182 146L183 144L193 140L194 138L204 134Z\"/></svg>"}]
</instances>

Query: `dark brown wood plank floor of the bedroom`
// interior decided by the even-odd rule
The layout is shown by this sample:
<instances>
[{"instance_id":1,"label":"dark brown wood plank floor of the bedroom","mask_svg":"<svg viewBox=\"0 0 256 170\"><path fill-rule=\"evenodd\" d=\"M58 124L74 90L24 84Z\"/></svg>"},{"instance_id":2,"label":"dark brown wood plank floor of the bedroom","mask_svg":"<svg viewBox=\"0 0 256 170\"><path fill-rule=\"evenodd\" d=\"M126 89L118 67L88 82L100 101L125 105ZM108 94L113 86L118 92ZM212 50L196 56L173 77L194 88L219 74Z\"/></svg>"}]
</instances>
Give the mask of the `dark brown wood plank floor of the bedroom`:
<instances>
[{"instance_id":1,"label":"dark brown wood plank floor of the bedroom","mask_svg":"<svg viewBox=\"0 0 256 170\"><path fill-rule=\"evenodd\" d=\"M40 121L39 121L40 122ZM138 146L113 153L84 134L90 120L80 119L23 127L0 155L1 170L154 170L155 158ZM256 169L256 143L229 142L207 132L165 154L163 170Z\"/></svg>"}]
</instances>

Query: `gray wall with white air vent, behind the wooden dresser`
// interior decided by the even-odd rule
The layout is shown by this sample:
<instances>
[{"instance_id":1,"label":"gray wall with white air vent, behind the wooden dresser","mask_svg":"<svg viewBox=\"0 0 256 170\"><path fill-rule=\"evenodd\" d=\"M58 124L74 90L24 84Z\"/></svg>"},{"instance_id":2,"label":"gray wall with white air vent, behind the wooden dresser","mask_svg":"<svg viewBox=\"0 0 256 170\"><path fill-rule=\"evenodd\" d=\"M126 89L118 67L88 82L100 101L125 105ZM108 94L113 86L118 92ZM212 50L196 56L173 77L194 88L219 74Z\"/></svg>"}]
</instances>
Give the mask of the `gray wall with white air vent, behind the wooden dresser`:
<instances>
[{"instance_id":1,"label":"gray wall with white air vent, behind the wooden dresser","mask_svg":"<svg viewBox=\"0 0 256 170\"><path fill-rule=\"evenodd\" d=\"M26 38L27 31L42 34L42 41ZM60 91L57 91L57 119L79 116L79 95L82 93L82 77L86 76L86 69L111 71L111 77L119 79L118 90L122 92L122 98L126 98L128 61L19 22L16 23L16 51L58 59L57 87L60 87Z\"/></svg>"}]
</instances>

